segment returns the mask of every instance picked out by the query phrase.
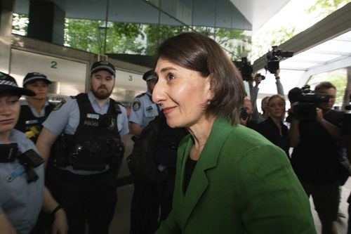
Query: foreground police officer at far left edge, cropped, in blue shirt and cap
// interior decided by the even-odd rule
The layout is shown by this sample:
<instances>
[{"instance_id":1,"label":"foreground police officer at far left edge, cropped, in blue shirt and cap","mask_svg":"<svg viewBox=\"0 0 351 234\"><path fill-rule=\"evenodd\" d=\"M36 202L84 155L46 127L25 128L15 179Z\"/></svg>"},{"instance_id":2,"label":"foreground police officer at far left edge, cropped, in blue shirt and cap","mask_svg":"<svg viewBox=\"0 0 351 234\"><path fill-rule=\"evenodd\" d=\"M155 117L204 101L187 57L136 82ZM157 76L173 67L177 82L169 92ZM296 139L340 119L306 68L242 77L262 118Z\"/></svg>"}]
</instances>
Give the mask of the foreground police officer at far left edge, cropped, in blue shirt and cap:
<instances>
[{"instance_id":1,"label":"foreground police officer at far left edge, cropped, in blue shirt and cap","mask_svg":"<svg viewBox=\"0 0 351 234\"><path fill-rule=\"evenodd\" d=\"M44 188L44 161L34 143L14 129L22 95L35 93L0 72L0 233L29 233L42 206L55 219L53 233L67 233L65 212Z\"/></svg>"}]
</instances>

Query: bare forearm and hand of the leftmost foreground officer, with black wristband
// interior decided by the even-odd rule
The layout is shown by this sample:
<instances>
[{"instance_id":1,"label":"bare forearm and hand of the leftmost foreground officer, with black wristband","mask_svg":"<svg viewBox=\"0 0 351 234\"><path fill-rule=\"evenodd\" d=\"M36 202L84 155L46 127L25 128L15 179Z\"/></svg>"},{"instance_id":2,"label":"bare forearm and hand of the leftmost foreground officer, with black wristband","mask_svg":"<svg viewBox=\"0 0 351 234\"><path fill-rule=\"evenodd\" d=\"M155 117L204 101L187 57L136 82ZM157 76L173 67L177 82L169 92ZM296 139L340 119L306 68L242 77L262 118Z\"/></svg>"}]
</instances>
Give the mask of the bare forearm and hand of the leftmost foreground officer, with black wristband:
<instances>
[{"instance_id":1,"label":"bare forearm and hand of the leftmost foreground officer, with black wristband","mask_svg":"<svg viewBox=\"0 0 351 234\"><path fill-rule=\"evenodd\" d=\"M44 202L43 210L47 214L52 214L55 208L58 207L58 202L56 202L51 196L50 191L44 188ZM67 217L63 209L58 209L55 214L53 214L53 234L66 234L68 230Z\"/></svg>"}]
</instances>

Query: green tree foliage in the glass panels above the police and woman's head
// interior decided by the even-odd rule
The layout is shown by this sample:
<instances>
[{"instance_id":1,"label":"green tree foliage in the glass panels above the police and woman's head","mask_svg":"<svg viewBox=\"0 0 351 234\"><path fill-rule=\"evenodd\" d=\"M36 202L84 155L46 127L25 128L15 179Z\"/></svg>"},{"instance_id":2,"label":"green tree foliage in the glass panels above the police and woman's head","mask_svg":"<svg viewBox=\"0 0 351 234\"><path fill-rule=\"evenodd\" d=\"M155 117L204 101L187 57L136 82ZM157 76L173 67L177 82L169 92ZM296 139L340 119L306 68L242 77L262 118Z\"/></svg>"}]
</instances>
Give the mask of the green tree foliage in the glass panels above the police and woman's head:
<instances>
[{"instance_id":1,"label":"green tree foliage in the glass panels above the police and woman's head","mask_svg":"<svg viewBox=\"0 0 351 234\"><path fill-rule=\"evenodd\" d=\"M27 15L14 14L13 33L27 34ZM107 26L107 27L106 27ZM157 46L164 39L182 32L197 31L215 39L223 46L232 60L251 49L251 37L243 30L213 27L142 25L128 22L107 22L103 20L65 19L64 44L91 53L131 53L154 55ZM105 45L106 33L106 45Z\"/></svg>"}]
</instances>

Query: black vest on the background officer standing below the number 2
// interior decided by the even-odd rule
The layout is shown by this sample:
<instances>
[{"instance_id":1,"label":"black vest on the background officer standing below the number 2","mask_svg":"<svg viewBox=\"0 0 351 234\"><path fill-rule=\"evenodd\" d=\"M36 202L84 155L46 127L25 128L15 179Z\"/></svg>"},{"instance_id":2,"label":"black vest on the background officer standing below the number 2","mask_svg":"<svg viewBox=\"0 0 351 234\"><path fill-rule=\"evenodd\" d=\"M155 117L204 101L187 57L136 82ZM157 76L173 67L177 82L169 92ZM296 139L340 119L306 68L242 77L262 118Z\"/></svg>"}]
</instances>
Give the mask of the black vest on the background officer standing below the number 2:
<instances>
[{"instance_id":1,"label":"black vest on the background officer standing below the number 2","mask_svg":"<svg viewBox=\"0 0 351 234\"><path fill-rule=\"evenodd\" d=\"M15 129L26 133L28 138L36 143L39 132L43 128L41 124L44 123L53 108L55 108L55 105L49 103L45 107L45 116L35 117L32 110L29 108L29 105L21 105L20 117L18 118Z\"/></svg>"}]
</instances>

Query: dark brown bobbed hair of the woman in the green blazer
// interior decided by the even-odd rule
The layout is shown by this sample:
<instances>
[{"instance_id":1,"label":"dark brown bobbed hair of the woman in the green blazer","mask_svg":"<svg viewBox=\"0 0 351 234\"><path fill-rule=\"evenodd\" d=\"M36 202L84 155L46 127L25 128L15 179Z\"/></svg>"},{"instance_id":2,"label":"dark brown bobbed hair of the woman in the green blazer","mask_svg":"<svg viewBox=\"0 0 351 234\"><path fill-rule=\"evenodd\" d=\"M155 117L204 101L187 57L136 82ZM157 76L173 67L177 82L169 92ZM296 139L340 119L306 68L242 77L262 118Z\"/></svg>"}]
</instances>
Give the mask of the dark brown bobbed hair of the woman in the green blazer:
<instances>
[{"instance_id":1,"label":"dark brown bobbed hair of the woman in the green blazer","mask_svg":"<svg viewBox=\"0 0 351 234\"><path fill-rule=\"evenodd\" d=\"M239 108L245 96L244 85L237 67L216 41L196 32L179 34L159 46L158 58L197 71L202 77L211 75L214 96L206 105L206 112L238 123Z\"/></svg>"}]
</instances>

